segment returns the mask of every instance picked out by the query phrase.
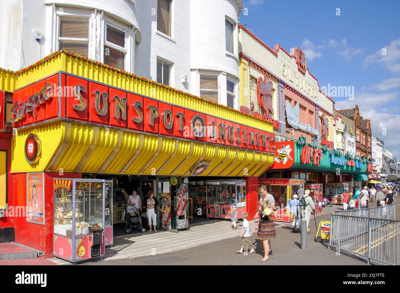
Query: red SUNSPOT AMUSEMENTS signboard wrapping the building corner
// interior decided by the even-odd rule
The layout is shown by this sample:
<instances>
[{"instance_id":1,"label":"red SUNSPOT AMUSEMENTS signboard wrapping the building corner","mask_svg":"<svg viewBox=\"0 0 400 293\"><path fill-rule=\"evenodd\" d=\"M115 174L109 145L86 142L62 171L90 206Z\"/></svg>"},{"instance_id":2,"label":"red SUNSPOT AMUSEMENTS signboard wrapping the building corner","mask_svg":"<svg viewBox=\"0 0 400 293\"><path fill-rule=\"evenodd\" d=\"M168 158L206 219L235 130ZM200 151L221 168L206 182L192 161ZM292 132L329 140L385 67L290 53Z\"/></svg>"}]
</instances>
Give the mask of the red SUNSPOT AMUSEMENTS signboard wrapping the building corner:
<instances>
[{"instance_id":1,"label":"red SUNSPOT AMUSEMENTS signboard wrapping the building corner","mask_svg":"<svg viewBox=\"0 0 400 293\"><path fill-rule=\"evenodd\" d=\"M60 115L100 126L275 152L275 136L270 132L69 74L60 74L58 86L58 77L56 74L14 93L15 127Z\"/></svg>"}]
</instances>

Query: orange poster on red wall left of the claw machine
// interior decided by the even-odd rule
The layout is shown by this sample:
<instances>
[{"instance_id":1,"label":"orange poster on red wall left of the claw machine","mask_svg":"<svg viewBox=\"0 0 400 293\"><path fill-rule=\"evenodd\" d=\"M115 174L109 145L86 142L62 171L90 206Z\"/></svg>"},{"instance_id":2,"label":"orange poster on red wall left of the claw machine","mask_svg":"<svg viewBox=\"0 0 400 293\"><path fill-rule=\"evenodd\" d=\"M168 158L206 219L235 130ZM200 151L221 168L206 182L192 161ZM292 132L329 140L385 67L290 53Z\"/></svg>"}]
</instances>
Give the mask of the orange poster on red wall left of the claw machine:
<instances>
[{"instance_id":1,"label":"orange poster on red wall left of the claw machine","mask_svg":"<svg viewBox=\"0 0 400 293\"><path fill-rule=\"evenodd\" d=\"M44 173L26 173L26 221L44 225Z\"/></svg>"}]
</instances>

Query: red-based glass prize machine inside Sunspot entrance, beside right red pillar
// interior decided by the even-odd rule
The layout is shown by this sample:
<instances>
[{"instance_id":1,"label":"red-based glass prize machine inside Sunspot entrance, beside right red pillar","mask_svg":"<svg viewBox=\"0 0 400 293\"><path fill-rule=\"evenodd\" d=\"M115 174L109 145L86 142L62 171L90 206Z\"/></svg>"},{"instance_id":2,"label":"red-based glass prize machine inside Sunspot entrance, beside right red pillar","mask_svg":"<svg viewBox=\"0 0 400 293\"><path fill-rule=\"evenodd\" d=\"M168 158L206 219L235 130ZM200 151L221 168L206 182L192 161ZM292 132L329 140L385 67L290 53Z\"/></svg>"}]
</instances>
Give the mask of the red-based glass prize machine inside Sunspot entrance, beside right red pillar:
<instances>
[{"instance_id":1,"label":"red-based glass prize machine inside Sunspot entrance, beside right red pillar","mask_svg":"<svg viewBox=\"0 0 400 293\"><path fill-rule=\"evenodd\" d=\"M232 207L237 208L238 219L246 211L246 181L205 181L207 219L230 219Z\"/></svg>"}]
</instances>

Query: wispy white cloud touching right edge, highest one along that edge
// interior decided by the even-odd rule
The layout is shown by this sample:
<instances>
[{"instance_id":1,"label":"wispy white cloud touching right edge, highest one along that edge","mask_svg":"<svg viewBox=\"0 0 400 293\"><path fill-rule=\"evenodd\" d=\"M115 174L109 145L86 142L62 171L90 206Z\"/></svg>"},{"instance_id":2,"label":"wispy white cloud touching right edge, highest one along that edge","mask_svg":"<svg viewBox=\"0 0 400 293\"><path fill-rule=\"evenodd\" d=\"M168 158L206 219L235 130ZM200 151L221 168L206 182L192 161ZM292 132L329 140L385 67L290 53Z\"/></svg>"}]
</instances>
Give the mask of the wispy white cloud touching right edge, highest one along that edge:
<instances>
[{"instance_id":1,"label":"wispy white cloud touching right edge, highest one along that edge","mask_svg":"<svg viewBox=\"0 0 400 293\"><path fill-rule=\"evenodd\" d=\"M386 49L386 55L383 49ZM400 39L393 40L389 46L384 46L364 60L364 66L378 64L390 72L400 73Z\"/></svg>"}]
</instances>

